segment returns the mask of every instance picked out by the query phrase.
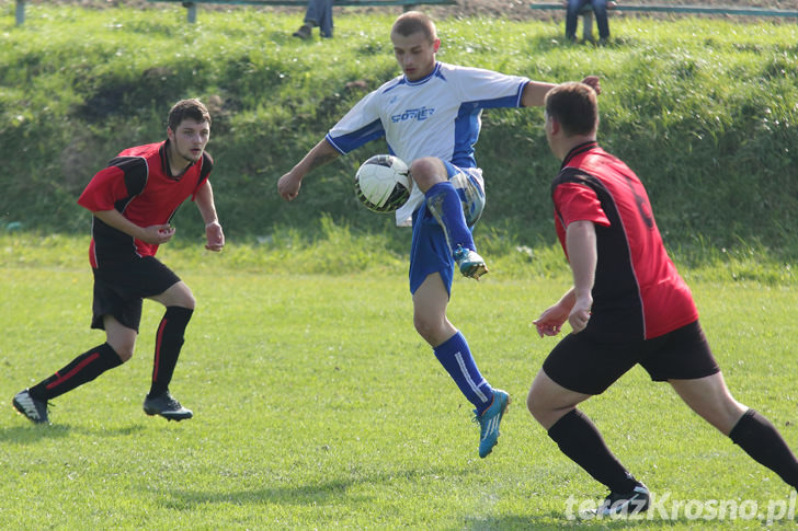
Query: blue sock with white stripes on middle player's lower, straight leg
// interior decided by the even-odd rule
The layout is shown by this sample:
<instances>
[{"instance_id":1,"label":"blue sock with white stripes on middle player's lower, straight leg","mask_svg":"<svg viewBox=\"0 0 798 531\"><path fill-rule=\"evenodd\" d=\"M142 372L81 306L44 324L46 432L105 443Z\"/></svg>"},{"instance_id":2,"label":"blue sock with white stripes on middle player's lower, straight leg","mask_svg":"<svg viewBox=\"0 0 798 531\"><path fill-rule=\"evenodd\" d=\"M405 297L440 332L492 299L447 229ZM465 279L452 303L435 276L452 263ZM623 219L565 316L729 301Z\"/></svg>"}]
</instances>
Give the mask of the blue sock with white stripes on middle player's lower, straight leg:
<instances>
[{"instance_id":1,"label":"blue sock with white stripes on middle player's lower, straight leg","mask_svg":"<svg viewBox=\"0 0 798 531\"><path fill-rule=\"evenodd\" d=\"M435 357L449 373L460 392L481 414L493 401L493 389L477 369L466 338L457 332L434 348Z\"/></svg>"}]
</instances>

